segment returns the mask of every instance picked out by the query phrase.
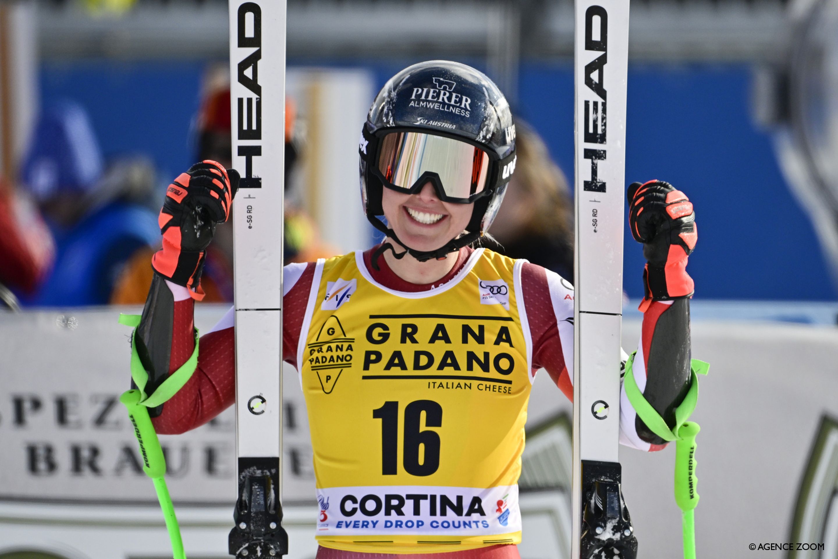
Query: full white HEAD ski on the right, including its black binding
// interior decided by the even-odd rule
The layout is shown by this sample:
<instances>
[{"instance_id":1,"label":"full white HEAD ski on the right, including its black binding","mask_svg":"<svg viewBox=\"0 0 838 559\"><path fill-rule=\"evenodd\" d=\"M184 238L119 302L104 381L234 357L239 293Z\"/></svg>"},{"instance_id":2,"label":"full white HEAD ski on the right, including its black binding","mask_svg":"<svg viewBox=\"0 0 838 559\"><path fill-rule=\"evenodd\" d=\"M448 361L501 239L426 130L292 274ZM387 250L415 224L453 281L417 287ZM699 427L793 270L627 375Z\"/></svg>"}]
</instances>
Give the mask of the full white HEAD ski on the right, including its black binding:
<instances>
[{"instance_id":1,"label":"full white HEAD ski on the right, including its black binding","mask_svg":"<svg viewBox=\"0 0 838 559\"><path fill-rule=\"evenodd\" d=\"M634 559L618 457L629 0L576 0L573 559Z\"/></svg>"}]
</instances>

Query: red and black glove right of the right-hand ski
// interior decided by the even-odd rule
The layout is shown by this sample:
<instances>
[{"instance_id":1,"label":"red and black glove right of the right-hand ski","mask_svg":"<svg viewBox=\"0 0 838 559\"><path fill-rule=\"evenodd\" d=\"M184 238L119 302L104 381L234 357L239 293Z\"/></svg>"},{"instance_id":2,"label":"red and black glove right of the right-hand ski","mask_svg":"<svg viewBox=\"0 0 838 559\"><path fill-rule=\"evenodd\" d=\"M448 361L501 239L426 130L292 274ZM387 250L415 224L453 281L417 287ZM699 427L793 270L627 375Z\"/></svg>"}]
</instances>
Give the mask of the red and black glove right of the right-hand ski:
<instances>
[{"instance_id":1,"label":"red and black glove right of the right-hand ski","mask_svg":"<svg viewBox=\"0 0 838 559\"><path fill-rule=\"evenodd\" d=\"M629 186L629 227L643 243L644 303L691 297L695 284L686 272L687 257L696 246L696 213L690 199L661 180Z\"/></svg>"}]
</instances>

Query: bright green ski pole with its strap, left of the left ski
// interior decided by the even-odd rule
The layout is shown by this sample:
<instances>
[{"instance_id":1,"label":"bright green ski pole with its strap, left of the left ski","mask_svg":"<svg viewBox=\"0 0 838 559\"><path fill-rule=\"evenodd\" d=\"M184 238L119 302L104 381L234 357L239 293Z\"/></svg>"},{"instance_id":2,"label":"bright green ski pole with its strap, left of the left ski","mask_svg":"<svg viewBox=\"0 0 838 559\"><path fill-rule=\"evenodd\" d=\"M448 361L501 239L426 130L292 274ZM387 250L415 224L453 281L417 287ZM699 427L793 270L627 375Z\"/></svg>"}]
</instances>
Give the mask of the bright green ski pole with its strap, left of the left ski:
<instances>
[{"instance_id":1,"label":"bright green ski pole with its strap, left of the left ski","mask_svg":"<svg viewBox=\"0 0 838 559\"><path fill-rule=\"evenodd\" d=\"M148 373L142 366L140 356L137 355L137 326L140 323L138 314L120 314L119 323L134 328L131 339L131 377L139 390L125 391L119 401L128 410L128 417L131 418L134 427L134 435L137 443L140 444L142 454L142 469L152 479L154 489L158 494L160 508L163 510L163 518L166 520L169 540L172 542L174 559L186 559L184 553L184 541L180 537L178 518L174 514L172 497L168 494L166 486L166 458L163 456L163 448L160 446L157 432L154 430L152 418L148 415L149 407L157 407L180 390L191 378L198 366L198 329L195 329L195 349L192 356L178 370L168 375L163 384L151 395L146 395L145 388L148 383Z\"/></svg>"}]
</instances>

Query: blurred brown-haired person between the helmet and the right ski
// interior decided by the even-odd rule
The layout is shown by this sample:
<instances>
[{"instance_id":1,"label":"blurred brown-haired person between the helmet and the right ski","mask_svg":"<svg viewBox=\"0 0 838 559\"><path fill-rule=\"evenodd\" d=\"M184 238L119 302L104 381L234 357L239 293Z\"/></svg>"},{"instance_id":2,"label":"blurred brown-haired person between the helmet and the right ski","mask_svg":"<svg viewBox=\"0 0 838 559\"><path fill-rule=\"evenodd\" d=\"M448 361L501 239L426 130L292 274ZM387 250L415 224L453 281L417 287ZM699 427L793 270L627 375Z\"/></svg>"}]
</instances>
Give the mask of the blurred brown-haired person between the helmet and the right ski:
<instances>
[{"instance_id":1,"label":"blurred brown-haired person between the helmet and the right ski","mask_svg":"<svg viewBox=\"0 0 838 559\"><path fill-rule=\"evenodd\" d=\"M573 280L573 199L567 179L535 130L515 122L518 161L492 229L493 251L525 258Z\"/></svg>"}]
</instances>

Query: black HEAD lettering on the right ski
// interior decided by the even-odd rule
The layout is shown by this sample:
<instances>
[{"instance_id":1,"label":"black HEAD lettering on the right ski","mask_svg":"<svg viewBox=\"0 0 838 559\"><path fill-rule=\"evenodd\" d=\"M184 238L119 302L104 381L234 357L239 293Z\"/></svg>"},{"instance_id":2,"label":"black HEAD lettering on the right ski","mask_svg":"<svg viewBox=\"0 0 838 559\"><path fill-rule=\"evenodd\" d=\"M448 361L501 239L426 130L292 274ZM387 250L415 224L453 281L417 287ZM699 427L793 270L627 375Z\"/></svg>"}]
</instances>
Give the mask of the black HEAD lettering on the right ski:
<instances>
[{"instance_id":1,"label":"black HEAD lettering on the right ski","mask_svg":"<svg viewBox=\"0 0 838 559\"><path fill-rule=\"evenodd\" d=\"M597 22L594 22L597 18ZM598 29L597 29L598 28ZM597 30L598 39L594 39ZM591 6L585 12L585 50L601 52L585 65L585 85L600 101L585 100L585 127L583 142L605 144L605 65L608 62L608 12L602 6ZM596 74L596 80L593 75ZM599 117L602 112L602 118ZM597 162L605 161L606 150L584 148L582 155L591 160L591 180L583 181L582 189L605 192L605 181L597 178Z\"/></svg>"}]
</instances>

